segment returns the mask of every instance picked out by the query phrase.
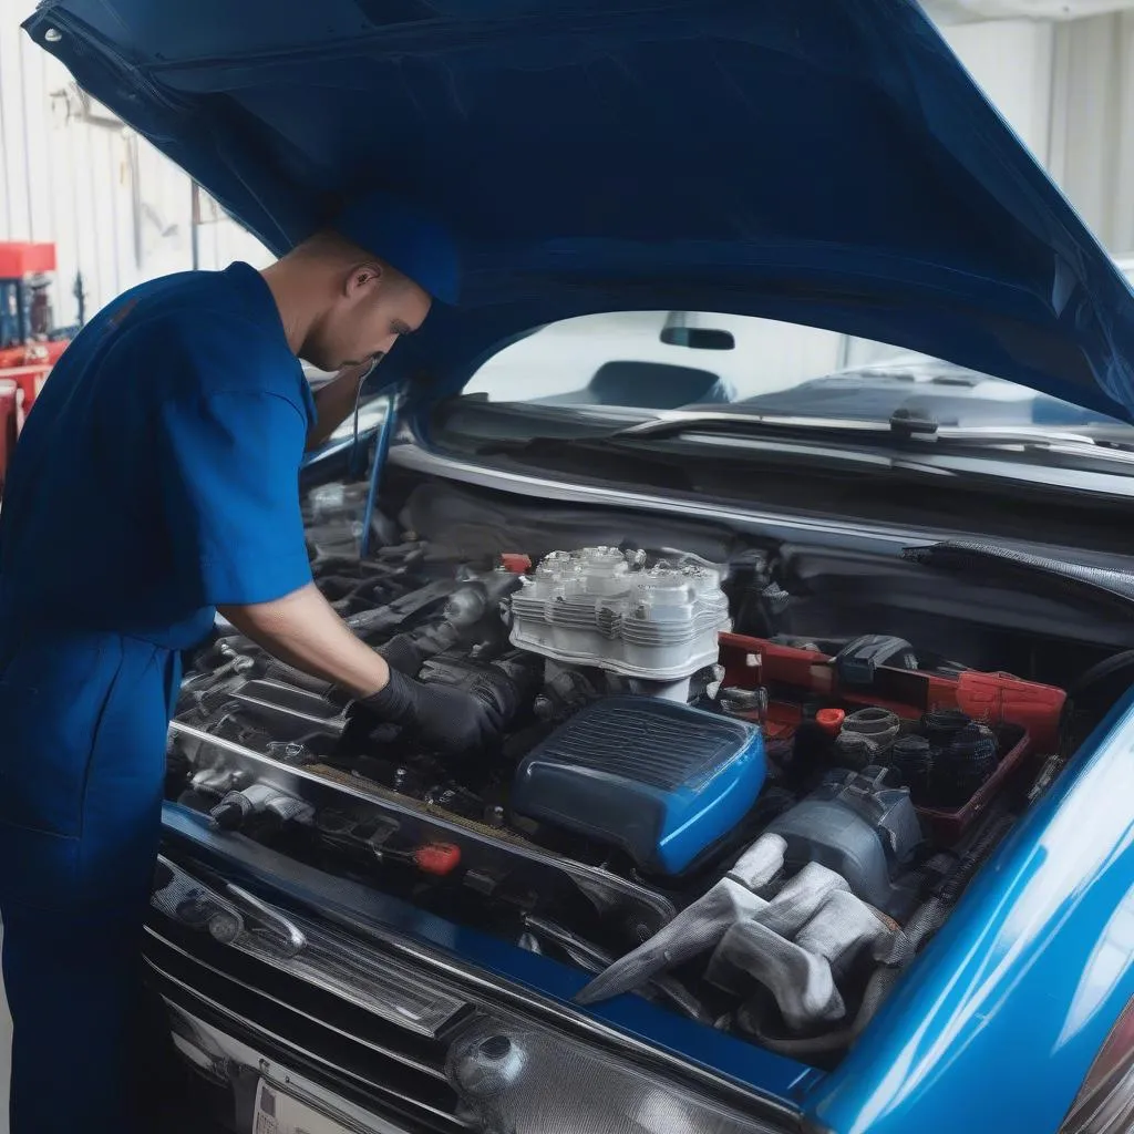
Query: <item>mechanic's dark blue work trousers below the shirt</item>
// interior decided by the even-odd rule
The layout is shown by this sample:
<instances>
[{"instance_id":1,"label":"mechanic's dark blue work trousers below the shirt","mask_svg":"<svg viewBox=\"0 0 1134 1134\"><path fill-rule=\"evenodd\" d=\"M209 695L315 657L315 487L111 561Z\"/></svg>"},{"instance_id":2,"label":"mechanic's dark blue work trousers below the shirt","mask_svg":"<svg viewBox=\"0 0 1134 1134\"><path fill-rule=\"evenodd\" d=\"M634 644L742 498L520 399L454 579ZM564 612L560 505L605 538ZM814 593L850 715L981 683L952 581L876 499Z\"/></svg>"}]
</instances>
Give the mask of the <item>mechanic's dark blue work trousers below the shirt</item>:
<instances>
[{"instance_id":1,"label":"mechanic's dark blue work trousers below the shirt","mask_svg":"<svg viewBox=\"0 0 1134 1134\"><path fill-rule=\"evenodd\" d=\"M177 654L149 642L0 631L0 1132L136 1128L178 679Z\"/></svg>"}]
</instances>

